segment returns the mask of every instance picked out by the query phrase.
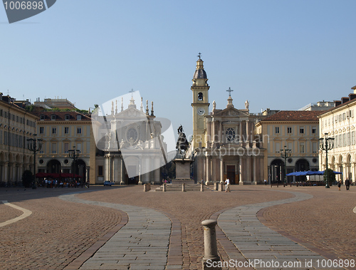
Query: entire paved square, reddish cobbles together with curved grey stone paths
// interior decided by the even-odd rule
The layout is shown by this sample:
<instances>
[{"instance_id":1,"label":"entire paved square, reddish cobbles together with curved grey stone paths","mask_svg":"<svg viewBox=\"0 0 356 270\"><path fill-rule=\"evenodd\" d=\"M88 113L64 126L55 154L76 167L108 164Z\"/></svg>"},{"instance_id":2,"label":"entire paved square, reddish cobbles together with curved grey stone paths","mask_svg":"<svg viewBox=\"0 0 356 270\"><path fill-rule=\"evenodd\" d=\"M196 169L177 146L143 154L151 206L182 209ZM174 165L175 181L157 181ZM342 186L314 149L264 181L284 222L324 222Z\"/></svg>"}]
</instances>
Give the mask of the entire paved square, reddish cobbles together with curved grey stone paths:
<instances>
[{"instance_id":1,"label":"entire paved square, reddish cobbles together with curved grey stone paths","mask_svg":"<svg viewBox=\"0 0 356 270\"><path fill-rule=\"evenodd\" d=\"M0 203L0 269L201 269L204 219L218 221L223 269L356 269L341 265L356 260L356 187L350 189L1 188L0 202L32 213L1 226L22 212ZM322 267L334 259L337 266ZM259 264L235 267L253 260Z\"/></svg>"}]
</instances>

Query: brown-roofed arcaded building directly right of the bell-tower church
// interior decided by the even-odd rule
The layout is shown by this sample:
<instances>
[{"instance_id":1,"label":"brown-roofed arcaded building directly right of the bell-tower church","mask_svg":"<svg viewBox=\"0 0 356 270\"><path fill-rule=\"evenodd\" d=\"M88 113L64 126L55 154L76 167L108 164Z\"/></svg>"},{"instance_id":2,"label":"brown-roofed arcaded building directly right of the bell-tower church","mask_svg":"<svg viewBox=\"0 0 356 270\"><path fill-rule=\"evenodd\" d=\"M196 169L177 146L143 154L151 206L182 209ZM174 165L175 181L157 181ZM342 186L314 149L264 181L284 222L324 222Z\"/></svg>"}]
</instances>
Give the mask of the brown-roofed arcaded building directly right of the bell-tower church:
<instances>
[{"instance_id":1,"label":"brown-roofed arcaded building directly right of the bell-tower church","mask_svg":"<svg viewBox=\"0 0 356 270\"><path fill-rule=\"evenodd\" d=\"M318 170L319 114L313 110L281 110L256 124L256 134L265 145L264 179L283 182L285 160L281 150L285 147L291 150L286 160L287 173Z\"/></svg>"}]
</instances>

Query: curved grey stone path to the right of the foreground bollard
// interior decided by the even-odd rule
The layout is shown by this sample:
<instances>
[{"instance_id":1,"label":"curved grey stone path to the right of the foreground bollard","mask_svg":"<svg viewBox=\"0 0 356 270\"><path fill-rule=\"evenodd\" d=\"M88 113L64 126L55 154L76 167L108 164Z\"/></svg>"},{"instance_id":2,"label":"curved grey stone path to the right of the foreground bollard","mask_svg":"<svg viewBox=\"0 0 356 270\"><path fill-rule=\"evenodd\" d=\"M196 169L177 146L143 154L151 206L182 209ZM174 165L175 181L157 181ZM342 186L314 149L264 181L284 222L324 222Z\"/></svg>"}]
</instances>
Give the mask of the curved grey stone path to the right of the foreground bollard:
<instances>
[{"instance_id":1,"label":"curved grey stone path to the right of the foreground bollard","mask_svg":"<svg viewBox=\"0 0 356 270\"><path fill-rule=\"evenodd\" d=\"M256 217L257 212L263 208L313 197L301 192L290 193L295 197L235 207L218 217L221 230L248 261L256 262L253 263L255 269L322 269L322 264L327 261L325 257L264 226Z\"/></svg>"}]
</instances>

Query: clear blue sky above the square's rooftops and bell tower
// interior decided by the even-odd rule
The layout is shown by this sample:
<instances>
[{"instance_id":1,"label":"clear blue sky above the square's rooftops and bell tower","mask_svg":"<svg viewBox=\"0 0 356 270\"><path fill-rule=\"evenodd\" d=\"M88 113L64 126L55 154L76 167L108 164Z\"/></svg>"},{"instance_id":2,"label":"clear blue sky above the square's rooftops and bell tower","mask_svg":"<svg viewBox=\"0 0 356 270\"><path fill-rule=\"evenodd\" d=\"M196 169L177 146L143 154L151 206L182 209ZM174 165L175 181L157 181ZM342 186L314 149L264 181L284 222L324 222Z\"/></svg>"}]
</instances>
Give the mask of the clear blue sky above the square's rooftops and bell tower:
<instances>
[{"instance_id":1,"label":"clear blue sky above the square's rooftops and bell tower","mask_svg":"<svg viewBox=\"0 0 356 270\"><path fill-rule=\"evenodd\" d=\"M356 85L355 10L351 0L58 0L9 24L1 7L0 91L88 109L133 88L191 134L201 52L216 108L231 87L236 108L298 110Z\"/></svg>"}]
</instances>

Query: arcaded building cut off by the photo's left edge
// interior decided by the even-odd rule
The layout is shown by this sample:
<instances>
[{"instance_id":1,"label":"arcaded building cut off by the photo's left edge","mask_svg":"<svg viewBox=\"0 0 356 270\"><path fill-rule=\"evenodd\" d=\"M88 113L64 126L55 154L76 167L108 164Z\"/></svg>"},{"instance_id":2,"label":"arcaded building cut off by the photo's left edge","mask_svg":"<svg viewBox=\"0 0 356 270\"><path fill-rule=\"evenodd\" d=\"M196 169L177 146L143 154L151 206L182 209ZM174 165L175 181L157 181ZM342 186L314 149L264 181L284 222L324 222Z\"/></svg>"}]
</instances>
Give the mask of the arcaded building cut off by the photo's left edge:
<instances>
[{"instance_id":1,"label":"arcaded building cut off by the photo's left edge","mask_svg":"<svg viewBox=\"0 0 356 270\"><path fill-rule=\"evenodd\" d=\"M0 93L0 185L21 185L24 170L33 171L28 139L36 134L36 116Z\"/></svg>"}]
</instances>

